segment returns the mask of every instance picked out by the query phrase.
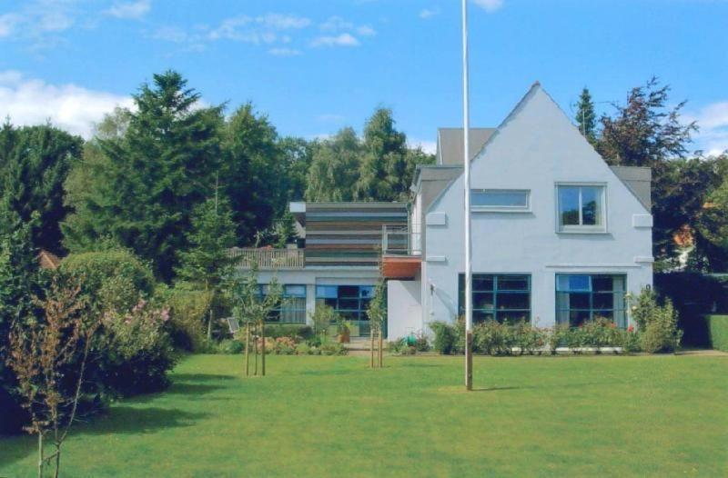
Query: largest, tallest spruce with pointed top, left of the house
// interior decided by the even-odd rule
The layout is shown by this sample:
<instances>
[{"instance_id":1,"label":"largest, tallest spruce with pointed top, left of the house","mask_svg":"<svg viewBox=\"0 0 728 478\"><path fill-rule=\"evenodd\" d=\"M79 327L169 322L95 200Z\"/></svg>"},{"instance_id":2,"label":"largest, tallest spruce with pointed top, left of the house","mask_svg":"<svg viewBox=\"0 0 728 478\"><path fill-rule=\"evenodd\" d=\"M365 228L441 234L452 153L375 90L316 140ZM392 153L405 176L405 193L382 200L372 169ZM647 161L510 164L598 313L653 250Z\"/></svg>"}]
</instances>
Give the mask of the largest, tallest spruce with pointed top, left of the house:
<instances>
[{"instance_id":1,"label":"largest, tallest spruce with pointed top, left of the house","mask_svg":"<svg viewBox=\"0 0 728 478\"><path fill-rule=\"evenodd\" d=\"M152 261L162 279L172 277L187 249L190 212L211 193L219 168L222 108L197 108L198 99L178 73L154 75L134 95L124 130L96 138L78 166L86 174L66 184L76 210L62 225L69 249L91 250L109 237Z\"/></svg>"}]
</instances>

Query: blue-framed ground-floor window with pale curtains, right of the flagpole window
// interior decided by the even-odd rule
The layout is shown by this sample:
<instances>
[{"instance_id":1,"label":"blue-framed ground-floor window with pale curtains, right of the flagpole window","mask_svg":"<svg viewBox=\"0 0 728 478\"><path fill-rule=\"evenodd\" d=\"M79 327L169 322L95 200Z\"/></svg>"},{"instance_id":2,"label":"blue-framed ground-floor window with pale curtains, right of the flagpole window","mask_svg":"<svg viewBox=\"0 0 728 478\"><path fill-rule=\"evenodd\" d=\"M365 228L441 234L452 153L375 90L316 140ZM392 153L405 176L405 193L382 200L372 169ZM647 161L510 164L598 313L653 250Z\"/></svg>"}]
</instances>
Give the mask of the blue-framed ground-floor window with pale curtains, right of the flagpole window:
<instances>
[{"instance_id":1,"label":"blue-framed ground-floor window with pale curtains, right of the flagpole window","mask_svg":"<svg viewBox=\"0 0 728 478\"><path fill-rule=\"evenodd\" d=\"M557 274L556 323L575 327L605 318L626 327L626 282L624 275Z\"/></svg>"}]
</instances>

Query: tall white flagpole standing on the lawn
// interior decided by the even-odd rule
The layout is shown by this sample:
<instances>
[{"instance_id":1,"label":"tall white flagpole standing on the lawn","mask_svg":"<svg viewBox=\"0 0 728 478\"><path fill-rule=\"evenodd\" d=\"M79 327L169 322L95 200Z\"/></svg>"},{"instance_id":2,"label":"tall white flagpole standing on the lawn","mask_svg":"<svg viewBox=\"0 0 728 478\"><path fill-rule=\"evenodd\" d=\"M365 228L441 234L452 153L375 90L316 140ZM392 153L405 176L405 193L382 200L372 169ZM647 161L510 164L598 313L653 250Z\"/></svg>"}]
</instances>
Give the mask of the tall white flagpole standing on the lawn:
<instances>
[{"instance_id":1,"label":"tall white flagpole standing on the lawn","mask_svg":"<svg viewBox=\"0 0 728 478\"><path fill-rule=\"evenodd\" d=\"M465 389L472 390L472 256L470 234L470 86L468 82L468 0L462 0L462 138L465 168Z\"/></svg>"}]
</instances>

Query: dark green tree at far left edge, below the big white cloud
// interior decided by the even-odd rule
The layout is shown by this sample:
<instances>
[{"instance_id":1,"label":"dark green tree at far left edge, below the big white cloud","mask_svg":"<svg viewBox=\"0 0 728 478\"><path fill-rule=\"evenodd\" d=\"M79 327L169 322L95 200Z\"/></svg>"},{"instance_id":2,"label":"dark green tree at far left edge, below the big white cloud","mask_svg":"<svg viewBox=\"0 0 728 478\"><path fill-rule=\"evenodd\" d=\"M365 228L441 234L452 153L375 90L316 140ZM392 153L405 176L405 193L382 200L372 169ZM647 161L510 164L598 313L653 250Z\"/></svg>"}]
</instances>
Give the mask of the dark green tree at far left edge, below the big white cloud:
<instances>
[{"instance_id":1,"label":"dark green tree at far left edge, below the big white cloud","mask_svg":"<svg viewBox=\"0 0 728 478\"><path fill-rule=\"evenodd\" d=\"M63 184L78 163L83 139L51 124L0 127L0 202L6 201L20 219L33 223L33 244L62 253L60 223L69 213Z\"/></svg>"}]
</instances>

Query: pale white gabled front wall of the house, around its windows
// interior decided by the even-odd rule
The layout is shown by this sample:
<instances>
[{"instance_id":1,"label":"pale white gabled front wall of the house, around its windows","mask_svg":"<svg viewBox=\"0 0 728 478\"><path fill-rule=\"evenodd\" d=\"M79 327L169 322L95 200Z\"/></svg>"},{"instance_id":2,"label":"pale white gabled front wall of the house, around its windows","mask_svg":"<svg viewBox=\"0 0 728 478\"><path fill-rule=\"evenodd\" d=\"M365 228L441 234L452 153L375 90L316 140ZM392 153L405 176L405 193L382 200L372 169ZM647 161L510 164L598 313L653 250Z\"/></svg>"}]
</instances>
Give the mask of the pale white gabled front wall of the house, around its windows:
<instances>
[{"instance_id":1,"label":"pale white gabled front wall of the house, around its windows","mask_svg":"<svg viewBox=\"0 0 728 478\"><path fill-rule=\"evenodd\" d=\"M606 234L557 232L560 182L606 186ZM473 213L473 273L531 274L531 320L555 323L556 274L626 274L639 293L652 284L652 229L633 216L650 214L540 86L534 86L471 166L471 187L531 190L530 213ZM464 271L462 176L430 206L447 215L426 224L422 265L423 320L453 320L458 274ZM639 218L638 218L639 219ZM642 218L643 219L643 218ZM639 223L639 220L638 220Z\"/></svg>"}]
</instances>

